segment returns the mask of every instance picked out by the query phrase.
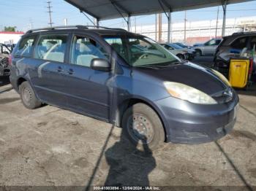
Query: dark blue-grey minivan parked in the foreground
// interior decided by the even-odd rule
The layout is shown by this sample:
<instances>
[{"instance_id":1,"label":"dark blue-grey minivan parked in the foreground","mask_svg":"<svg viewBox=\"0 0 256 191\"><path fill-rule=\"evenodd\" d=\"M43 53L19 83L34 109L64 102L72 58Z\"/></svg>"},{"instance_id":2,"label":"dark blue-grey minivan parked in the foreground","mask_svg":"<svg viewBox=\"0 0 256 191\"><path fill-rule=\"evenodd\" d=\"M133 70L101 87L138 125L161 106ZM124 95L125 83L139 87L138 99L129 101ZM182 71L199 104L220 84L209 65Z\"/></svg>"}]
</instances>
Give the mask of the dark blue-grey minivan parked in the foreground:
<instances>
[{"instance_id":1,"label":"dark blue-grey minivan parked in the foreground","mask_svg":"<svg viewBox=\"0 0 256 191\"><path fill-rule=\"evenodd\" d=\"M151 149L214 141L236 122L238 95L222 74L123 29L28 31L10 69L26 108L50 104L104 120Z\"/></svg>"}]
</instances>

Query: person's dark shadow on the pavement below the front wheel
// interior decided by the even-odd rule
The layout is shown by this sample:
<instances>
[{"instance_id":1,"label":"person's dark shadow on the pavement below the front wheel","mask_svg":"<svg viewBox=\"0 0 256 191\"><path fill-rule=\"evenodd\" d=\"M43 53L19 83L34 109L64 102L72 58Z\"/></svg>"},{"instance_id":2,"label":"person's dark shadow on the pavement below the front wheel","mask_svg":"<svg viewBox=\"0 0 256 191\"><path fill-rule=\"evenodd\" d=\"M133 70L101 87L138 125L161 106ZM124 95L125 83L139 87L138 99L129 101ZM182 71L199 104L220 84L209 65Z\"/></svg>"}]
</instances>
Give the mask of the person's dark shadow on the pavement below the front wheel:
<instances>
[{"instance_id":1,"label":"person's dark shadow on the pavement below the front wheel","mask_svg":"<svg viewBox=\"0 0 256 191\"><path fill-rule=\"evenodd\" d=\"M138 142L131 144L122 130L120 141L105 152L110 166L105 186L149 186L148 174L156 167L156 160L148 144L141 149L137 146Z\"/></svg>"}]
</instances>

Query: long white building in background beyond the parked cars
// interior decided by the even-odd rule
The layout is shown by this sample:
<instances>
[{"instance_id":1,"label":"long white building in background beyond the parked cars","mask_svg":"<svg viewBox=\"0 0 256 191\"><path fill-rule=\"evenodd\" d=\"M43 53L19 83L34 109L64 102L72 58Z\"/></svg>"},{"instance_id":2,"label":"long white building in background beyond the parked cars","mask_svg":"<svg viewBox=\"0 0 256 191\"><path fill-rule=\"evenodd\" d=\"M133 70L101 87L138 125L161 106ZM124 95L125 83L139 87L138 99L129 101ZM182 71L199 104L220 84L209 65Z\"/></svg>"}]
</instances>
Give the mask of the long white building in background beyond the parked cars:
<instances>
[{"instance_id":1,"label":"long white building in background beyond the parked cars","mask_svg":"<svg viewBox=\"0 0 256 191\"><path fill-rule=\"evenodd\" d=\"M222 20L200 20L187 21L186 39L188 44L195 42L205 42L208 39L214 38L217 26L217 36L222 36ZM158 28L158 27L157 27ZM171 39L173 42L184 42L184 23L173 23L171 25ZM230 35L238 31L247 31L256 29L255 17L238 17L228 18L226 20L225 35ZM132 26L132 32L135 32L135 26ZM156 26L137 26L136 33L143 34L156 39ZM157 37L158 41L158 37ZM162 41L167 41L167 23L162 24Z\"/></svg>"}]
</instances>

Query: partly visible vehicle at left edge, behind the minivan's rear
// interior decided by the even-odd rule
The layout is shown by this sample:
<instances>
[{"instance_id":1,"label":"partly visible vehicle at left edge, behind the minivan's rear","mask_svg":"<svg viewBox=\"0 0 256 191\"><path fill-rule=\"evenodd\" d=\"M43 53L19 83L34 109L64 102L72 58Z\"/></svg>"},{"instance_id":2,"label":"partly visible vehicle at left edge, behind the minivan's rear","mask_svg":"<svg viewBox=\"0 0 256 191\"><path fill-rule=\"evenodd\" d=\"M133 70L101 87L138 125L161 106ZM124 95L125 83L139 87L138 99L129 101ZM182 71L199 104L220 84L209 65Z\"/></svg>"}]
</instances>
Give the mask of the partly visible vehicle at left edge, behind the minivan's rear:
<instances>
[{"instance_id":1,"label":"partly visible vehicle at left edge, behind the minivan's rear","mask_svg":"<svg viewBox=\"0 0 256 191\"><path fill-rule=\"evenodd\" d=\"M0 77L10 75L8 58L11 52L12 51L6 44L0 43Z\"/></svg>"}]
</instances>

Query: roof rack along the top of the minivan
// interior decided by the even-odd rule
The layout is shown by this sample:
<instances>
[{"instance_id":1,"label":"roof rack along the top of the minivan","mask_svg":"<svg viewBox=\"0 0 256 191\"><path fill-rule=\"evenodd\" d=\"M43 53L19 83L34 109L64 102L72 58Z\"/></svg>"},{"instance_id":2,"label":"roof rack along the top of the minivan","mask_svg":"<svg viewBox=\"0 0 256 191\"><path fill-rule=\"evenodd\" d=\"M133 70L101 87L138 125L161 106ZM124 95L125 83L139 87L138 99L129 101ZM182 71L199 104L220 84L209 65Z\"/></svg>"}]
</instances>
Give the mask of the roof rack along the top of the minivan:
<instances>
[{"instance_id":1,"label":"roof rack along the top of the minivan","mask_svg":"<svg viewBox=\"0 0 256 191\"><path fill-rule=\"evenodd\" d=\"M67 28L78 28L78 29L89 29L89 28L102 28L102 29L113 29L113 30L119 30L119 31L126 31L123 28L108 28L104 26L53 26L53 27L46 27L46 28L35 28L31 29L26 32L26 34L31 34L35 31L50 31L55 29L67 29Z\"/></svg>"}]
</instances>

